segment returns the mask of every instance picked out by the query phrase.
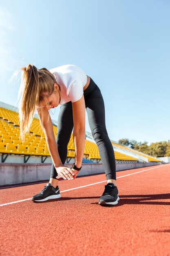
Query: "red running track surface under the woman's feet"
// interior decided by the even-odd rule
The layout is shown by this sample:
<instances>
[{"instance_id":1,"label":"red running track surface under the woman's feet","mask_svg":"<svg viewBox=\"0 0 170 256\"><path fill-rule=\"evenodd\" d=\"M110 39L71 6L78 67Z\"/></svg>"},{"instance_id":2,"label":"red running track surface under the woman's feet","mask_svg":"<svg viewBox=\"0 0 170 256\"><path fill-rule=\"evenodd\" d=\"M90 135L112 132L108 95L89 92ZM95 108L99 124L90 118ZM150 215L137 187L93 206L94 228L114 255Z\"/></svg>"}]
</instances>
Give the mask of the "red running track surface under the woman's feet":
<instances>
[{"instance_id":1,"label":"red running track surface under the woman's feet","mask_svg":"<svg viewBox=\"0 0 170 256\"><path fill-rule=\"evenodd\" d=\"M100 174L61 180L59 188L65 191L105 179ZM120 200L115 206L98 204L106 182L39 203L25 199L46 183L1 189L0 255L168 256L169 180L170 164L119 171ZM7 204L18 200L25 201Z\"/></svg>"}]
</instances>

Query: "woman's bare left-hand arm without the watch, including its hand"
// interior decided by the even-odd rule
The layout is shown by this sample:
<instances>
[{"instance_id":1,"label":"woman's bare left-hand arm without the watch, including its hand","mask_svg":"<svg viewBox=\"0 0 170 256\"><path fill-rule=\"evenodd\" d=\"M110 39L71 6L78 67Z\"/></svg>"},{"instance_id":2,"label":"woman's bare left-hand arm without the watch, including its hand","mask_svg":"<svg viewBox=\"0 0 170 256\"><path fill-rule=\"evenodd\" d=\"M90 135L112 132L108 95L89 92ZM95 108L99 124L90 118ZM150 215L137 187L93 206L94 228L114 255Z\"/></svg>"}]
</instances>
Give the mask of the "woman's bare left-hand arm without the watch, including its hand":
<instances>
[{"instance_id":1,"label":"woman's bare left-hand arm without the watch, including its hand","mask_svg":"<svg viewBox=\"0 0 170 256\"><path fill-rule=\"evenodd\" d=\"M54 137L53 124L51 121L51 117L49 115L49 111L46 108L43 108L42 114L40 113L40 111L37 112L40 119L40 124L42 126L46 138L46 144L48 146L49 153L51 155L51 159L53 161L57 173L59 174L61 172L62 175L60 174L60 176L62 176L64 179L68 177L72 178L74 175L73 170L62 164L62 161L58 154L57 144Z\"/></svg>"}]
</instances>

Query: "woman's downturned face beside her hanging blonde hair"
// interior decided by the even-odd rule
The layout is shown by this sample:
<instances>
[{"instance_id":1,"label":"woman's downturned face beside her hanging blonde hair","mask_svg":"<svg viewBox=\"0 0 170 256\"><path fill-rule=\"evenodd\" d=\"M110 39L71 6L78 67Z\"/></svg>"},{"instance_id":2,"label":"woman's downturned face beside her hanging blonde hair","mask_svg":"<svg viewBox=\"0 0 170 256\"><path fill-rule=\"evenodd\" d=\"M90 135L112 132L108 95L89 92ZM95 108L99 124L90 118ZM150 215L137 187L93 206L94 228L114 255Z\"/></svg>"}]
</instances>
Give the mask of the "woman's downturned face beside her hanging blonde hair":
<instances>
[{"instance_id":1,"label":"woman's downturned face beside her hanging blonde hair","mask_svg":"<svg viewBox=\"0 0 170 256\"><path fill-rule=\"evenodd\" d=\"M55 84L55 85L57 85L57 84ZM60 91L58 90L58 85L55 86L54 92L49 97L47 97L46 99L47 99L49 105L46 104L44 101L42 101L42 105L44 107L46 107L47 110L49 110L50 108L56 108L59 105L59 103L60 103Z\"/></svg>"}]
</instances>

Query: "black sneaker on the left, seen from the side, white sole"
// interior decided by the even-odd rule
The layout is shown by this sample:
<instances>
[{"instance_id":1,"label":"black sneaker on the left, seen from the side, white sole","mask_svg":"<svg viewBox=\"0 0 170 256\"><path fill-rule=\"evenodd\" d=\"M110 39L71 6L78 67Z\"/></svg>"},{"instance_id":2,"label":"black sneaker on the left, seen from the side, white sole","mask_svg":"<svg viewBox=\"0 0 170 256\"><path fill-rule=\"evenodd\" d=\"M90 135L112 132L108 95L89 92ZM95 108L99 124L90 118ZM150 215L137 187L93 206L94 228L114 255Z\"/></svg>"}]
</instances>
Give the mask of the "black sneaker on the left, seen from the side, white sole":
<instances>
[{"instance_id":1,"label":"black sneaker on the left, seen from the side, white sole","mask_svg":"<svg viewBox=\"0 0 170 256\"><path fill-rule=\"evenodd\" d=\"M31 200L33 202L43 202L60 197L61 195L58 186L55 189L53 186L51 186L51 183L47 183L46 186L44 186L44 189L39 194L34 195Z\"/></svg>"}]
</instances>

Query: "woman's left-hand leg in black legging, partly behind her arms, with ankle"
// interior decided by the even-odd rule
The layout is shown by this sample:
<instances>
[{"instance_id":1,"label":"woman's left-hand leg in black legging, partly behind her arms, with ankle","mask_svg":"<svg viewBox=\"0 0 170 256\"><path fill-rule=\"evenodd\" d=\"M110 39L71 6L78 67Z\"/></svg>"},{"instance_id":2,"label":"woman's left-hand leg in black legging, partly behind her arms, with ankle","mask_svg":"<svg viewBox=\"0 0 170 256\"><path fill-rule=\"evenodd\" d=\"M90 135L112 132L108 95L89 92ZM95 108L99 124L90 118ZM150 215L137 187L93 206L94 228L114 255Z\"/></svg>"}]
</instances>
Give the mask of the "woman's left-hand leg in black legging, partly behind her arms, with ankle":
<instances>
[{"instance_id":1,"label":"woman's left-hand leg in black legging, partly behind her arms, with ankle","mask_svg":"<svg viewBox=\"0 0 170 256\"><path fill-rule=\"evenodd\" d=\"M57 121L56 143L58 153L62 164L65 164L67 158L67 146L73 130L73 110L71 101L61 105ZM56 187L58 180L56 179L57 171L52 163L50 183Z\"/></svg>"}]
</instances>

